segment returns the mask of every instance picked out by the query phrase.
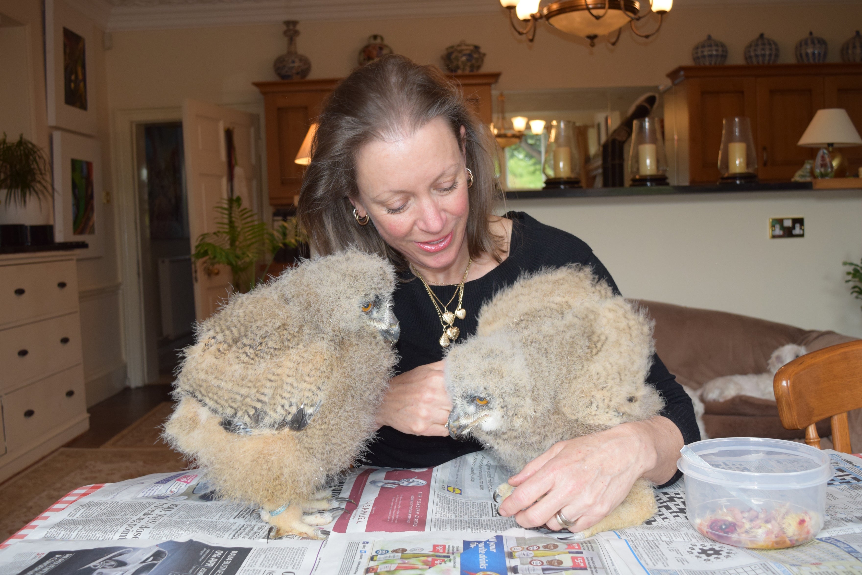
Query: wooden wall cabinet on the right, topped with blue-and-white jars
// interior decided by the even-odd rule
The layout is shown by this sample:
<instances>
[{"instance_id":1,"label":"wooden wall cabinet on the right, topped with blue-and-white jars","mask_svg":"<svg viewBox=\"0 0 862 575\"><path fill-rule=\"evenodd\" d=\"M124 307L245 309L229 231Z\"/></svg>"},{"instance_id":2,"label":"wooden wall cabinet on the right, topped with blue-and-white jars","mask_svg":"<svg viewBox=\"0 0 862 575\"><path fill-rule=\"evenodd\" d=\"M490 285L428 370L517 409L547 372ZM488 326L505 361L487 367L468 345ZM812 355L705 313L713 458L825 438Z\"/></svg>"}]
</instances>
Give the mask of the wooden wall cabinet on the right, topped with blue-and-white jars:
<instances>
[{"instance_id":1,"label":"wooden wall cabinet on the right, topped with blue-and-white jars","mask_svg":"<svg viewBox=\"0 0 862 575\"><path fill-rule=\"evenodd\" d=\"M761 181L788 181L816 150L796 142L815 111L846 108L862 128L862 65L681 66L668 74L665 142L671 183L715 183L721 120L751 119ZM851 112L853 110L853 112ZM847 148L851 169L862 148Z\"/></svg>"}]
</instances>

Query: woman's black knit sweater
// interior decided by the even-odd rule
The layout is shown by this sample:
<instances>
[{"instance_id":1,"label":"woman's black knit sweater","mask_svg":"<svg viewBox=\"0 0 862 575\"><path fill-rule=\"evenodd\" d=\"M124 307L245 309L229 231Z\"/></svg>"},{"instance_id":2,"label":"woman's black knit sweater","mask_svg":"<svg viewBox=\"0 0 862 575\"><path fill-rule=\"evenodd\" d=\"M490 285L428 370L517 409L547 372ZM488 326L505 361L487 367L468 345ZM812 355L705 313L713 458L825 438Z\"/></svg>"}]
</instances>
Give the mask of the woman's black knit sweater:
<instances>
[{"instance_id":1,"label":"woman's black knit sweater","mask_svg":"<svg viewBox=\"0 0 862 575\"><path fill-rule=\"evenodd\" d=\"M597 277L607 281L619 293L608 270L599 262L590 246L577 237L540 224L524 212L509 212L506 218L513 222L509 257L478 280L465 284L463 306L467 316L463 320L455 320L455 325L461 330L459 339L468 338L476 332L478 311L482 304L501 288L514 283L524 272L580 263L589 265ZM413 279L413 275L408 272L403 279ZM443 301L448 301L456 288L432 286L434 294ZM401 338L397 344L401 359L396 367L397 373L440 361L443 349L437 339L440 338L442 327L422 282L399 283L394 299L395 314L401 322ZM653 357L653 367L647 382L655 386L665 398L666 405L661 414L676 424L685 443L700 439L691 400L658 355ZM481 449L482 445L473 439L458 441L449 437L423 437L401 433L392 427L381 427L365 458L368 464L381 467L430 467ZM671 481L677 478L678 475Z\"/></svg>"}]
</instances>

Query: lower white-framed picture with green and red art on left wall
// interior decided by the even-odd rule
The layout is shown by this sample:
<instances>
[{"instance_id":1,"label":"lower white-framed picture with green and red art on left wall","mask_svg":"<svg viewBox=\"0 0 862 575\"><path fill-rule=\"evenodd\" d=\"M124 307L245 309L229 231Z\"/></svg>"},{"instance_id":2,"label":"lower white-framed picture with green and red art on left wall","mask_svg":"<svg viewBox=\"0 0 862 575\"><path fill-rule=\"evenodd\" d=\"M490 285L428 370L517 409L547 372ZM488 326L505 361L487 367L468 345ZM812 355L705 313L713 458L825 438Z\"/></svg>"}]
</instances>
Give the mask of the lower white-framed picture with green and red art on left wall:
<instances>
[{"instance_id":1,"label":"lower white-framed picture with green and red art on left wall","mask_svg":"<svg viewBox=\"0 0 862 575\"><path fill-rule=\"evenodd\" d=\"M102 150L99 142L59 130L52 134L54 237L86 242L78 258L104 255Z\"/></svg>"}]
</instances>

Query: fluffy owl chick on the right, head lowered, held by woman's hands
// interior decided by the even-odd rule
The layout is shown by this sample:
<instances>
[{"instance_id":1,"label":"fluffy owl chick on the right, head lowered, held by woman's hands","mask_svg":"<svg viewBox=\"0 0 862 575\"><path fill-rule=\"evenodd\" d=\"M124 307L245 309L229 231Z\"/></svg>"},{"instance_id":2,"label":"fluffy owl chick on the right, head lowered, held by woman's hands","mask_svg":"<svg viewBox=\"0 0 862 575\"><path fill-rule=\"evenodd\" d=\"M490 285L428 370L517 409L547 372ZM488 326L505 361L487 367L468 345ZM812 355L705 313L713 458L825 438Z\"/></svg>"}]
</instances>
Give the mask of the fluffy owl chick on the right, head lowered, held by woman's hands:
<instances>
[{"instance_id":1,"label":"fluffy owl chick on the right, head lowered, held by woman's hands","mask_svg":"<svg viewBox=\"0 0 862 575\"><path fill-rule=\"evenodd\" d=\"M646 420L664 405L646 383L652 334L647 316L590 268L525 275L486 303L476 335L447 353L449 431L472 435L520 471L558 441ZM511 489L505 483L497 492ZM584 537L640 524L655 511L652 485L639 479Z\"/></svg>"}]
</instances>

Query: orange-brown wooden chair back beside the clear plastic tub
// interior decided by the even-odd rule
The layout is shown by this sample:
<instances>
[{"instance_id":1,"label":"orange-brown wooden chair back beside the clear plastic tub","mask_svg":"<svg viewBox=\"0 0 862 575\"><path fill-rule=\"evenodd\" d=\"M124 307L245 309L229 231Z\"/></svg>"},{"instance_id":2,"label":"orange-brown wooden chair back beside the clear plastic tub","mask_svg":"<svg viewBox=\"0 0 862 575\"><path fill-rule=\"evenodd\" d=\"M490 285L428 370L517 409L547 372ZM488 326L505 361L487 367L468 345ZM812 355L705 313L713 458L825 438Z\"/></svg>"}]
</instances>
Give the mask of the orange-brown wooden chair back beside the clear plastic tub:
<instances>
[{"instance_id":1,"label":"orange-brown wooden chair back beside the clear plastic tub","mask_svg":"<svg viewBox=\"0 0 862 575\"><path fill-rule=\"evenodd\" d=\"M862 340L830 345L797 357L772 380L785 429L805 429L805 443L820 447L815 423L832 418L836 452L853 453L847 412L862 408Z\"/></svg>"}]
</instances>

